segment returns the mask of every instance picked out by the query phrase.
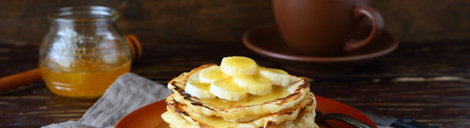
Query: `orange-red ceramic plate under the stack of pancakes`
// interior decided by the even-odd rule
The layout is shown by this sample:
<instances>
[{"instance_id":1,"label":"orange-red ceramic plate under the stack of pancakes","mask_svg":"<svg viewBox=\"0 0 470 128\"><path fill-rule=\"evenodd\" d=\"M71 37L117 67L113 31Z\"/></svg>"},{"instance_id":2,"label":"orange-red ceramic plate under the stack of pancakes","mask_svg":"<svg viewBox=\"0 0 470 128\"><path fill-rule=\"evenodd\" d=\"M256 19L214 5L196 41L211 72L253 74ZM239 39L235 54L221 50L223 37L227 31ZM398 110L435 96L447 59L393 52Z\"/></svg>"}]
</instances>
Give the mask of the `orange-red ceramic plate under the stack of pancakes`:
<instances>
[{"instance_id":1,"label":"orange-red ceramic plate under the stack of pancakes","mask_svg":"<svg viewBox=\"0 0 470 128\"><path fill-rule=\"evenodd\" d=\"M320 96L315 96L315 98L317 99L316 111L343 113L377 127L366 115L351 106ZM166 103L165 100L160 100L127 114L119 120L114 128L158 128L165 123L160 116L164 112L166 112ZM354 128L336 120L326 120L325 122L318 123L318 125L320 128Z\"/></svg>"}]
</instances>

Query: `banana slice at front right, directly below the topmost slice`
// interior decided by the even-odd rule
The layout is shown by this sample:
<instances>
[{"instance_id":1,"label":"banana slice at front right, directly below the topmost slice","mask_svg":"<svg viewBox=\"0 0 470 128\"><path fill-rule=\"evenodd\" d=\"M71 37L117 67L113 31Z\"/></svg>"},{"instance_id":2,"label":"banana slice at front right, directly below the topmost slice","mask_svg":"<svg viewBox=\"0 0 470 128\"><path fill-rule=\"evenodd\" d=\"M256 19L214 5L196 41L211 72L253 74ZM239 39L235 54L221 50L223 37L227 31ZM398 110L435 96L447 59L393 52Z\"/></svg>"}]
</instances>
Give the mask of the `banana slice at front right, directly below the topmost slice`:
<instances>
[{"instance_id":1,"label":"banana slice at front right, directly below the topmost slice","mask_svg":"<svg viewBox=\"0 0 470 128\"><path fill-rule=\"evenodd\" d=\"M271 80L258 75L237 75L234 77L234 82L253 95L264 96L273 90Z\"/></svg>"}]
</instances>

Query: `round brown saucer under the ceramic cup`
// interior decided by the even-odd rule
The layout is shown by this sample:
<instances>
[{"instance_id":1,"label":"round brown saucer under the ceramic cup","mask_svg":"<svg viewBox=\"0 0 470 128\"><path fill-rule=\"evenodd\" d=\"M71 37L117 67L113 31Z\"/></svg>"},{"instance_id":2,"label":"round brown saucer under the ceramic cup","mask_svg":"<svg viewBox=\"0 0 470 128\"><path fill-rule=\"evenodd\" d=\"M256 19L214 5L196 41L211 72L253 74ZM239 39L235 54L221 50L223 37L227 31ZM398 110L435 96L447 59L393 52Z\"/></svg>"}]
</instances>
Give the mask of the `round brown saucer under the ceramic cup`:
<instances>
[{"instance_id":1,"label":"round brown saucer under the ceramic cup","mask_svg":"<svg viewBox=\"0 0 470 128\"><path fill-rule=\"evenodd\" d=\"M370 29L364 29L370 30ZM358 34L368 35L368 31ZM251 51L268 59L277 60L286 68L302 73L342 73L392 52L398 46L398 39L384 31L375 42L347 52L338 57L311 57L294 55L285 45L274 23L258 26L243 35L243 44Z\"/></svg>"}]
</instances>

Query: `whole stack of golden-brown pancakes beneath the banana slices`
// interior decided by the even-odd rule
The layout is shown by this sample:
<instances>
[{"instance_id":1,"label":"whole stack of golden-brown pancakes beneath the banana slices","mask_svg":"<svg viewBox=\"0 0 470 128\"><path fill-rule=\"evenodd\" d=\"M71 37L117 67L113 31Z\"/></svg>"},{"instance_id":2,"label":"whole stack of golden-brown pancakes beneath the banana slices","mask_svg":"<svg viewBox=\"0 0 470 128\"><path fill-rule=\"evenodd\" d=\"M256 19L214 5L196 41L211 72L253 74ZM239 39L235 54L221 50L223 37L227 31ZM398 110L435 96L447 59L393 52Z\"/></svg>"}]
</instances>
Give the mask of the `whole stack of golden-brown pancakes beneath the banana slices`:
<instances>
[{"instance_id":1,"label":"whole stack of golden-brown pancakes beneath the banana slices","mask_svg":"<svg viewBox=\"0 0 470 128\"><path fill-rule=\"evenodd\" d=\"M319 128L315 123L316 101L307 78L290 75L287 87L274 88L266 96L250 95L240 101L200 99L185 93L188 81L198 81L206 64L173 78L162 114L171 128Z\"/></svg>"}]
</instances>

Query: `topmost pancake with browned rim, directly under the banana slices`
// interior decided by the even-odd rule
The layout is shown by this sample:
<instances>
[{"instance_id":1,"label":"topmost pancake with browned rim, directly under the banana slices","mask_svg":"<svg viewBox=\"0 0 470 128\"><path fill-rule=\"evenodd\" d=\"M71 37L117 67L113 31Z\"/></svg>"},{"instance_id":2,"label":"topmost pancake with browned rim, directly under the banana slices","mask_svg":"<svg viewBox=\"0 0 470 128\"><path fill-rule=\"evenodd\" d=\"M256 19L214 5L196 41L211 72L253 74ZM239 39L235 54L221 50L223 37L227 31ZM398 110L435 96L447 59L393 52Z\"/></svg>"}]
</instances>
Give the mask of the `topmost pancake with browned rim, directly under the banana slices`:
<instances>
[{"instance_id":1,"label":"topmost pancake with browned rim, directly under the banana slices","mask_svg":"<svg viewBox=\"0 0 470 128\"><path fill-rule=\"evenodd\" d=\"M236 102L220 98L200 99L186 93L186 83L199 81L199 72L212 66L217 65L206 64L173 78L167 87L173 90L174 100L187 105L188 110L207 117L218 116L223 120L246 122L292 108L300 103L310 90L307 78L290 75L288 86L274 86L273 92L266 96L249 95L248 98Z\"/></svg>"}]
</instances>

